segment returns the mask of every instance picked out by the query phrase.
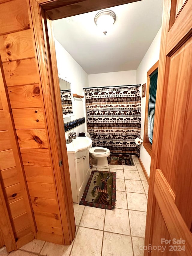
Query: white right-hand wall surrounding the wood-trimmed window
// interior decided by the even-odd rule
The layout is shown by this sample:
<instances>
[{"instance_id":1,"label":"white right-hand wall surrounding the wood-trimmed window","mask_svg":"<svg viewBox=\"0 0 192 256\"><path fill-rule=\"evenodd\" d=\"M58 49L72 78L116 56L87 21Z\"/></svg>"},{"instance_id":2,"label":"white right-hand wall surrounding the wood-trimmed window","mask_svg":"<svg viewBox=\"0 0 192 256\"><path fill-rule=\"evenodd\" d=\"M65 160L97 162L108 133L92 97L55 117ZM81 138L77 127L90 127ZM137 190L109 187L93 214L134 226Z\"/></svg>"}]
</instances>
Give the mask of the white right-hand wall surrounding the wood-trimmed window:
<instances>
[{"instance_id":1,"label":"white right-hand wall surrounding the wood-trimmed window","mask_svg":"<svg viewBox=\"0 0 192 256\"><path fill-rule=\"evenodd\" d=\"M147 71L158 61L159 59L159 50L160 50L160 40L161 40L161 29L158 31L155 36L152 44L147 50L145 56L143 57L140 65L137 68L136 73L136 83L144 84L147 83ZM141 93L141 88L140 88ZM144 134L144 123L145 123L145 105L146 105L146 97L141 98L141 138L143 138ZM146 151L146 149L141 145L140 147L140 159L148 173L150 174L150 164L151 164L151 156Z\"/></svg>"}]
</instances>

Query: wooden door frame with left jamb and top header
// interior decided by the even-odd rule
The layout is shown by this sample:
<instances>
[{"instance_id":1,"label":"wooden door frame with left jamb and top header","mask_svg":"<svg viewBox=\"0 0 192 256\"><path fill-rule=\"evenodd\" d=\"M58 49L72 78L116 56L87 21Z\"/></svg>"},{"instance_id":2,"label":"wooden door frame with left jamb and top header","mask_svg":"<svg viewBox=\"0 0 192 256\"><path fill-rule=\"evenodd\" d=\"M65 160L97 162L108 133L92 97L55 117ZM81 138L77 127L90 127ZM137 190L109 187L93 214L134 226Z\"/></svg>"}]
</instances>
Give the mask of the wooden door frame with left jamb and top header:
<instances>
[{"instance_id":1,"label":"wooden door frame with left jamb and top header","mask_svg":"<svg viewBox=\"0 0 192 256\"><path fill-rule=\"evenodd\" d=\"M69 17L112 6L141 0L27 0L31 29L34 33L37 68L40 72L42 96L47 121L64 244L69 245L75 236L75 220L70 185L70 174L65 143L65 133L60 89L50 20ZM59 160L63 166L59 167Z\"/></svg>"}]
</instances>

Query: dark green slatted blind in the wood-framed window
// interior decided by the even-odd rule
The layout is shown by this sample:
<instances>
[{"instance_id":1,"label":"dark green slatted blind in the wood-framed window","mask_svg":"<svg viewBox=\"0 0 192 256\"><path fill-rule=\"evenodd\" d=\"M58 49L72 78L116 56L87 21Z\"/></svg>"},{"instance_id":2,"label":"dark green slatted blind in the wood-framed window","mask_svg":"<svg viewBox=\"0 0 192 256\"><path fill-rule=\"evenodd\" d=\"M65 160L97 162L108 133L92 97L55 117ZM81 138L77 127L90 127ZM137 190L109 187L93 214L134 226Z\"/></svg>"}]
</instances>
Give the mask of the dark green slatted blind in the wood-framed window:
<instances>
[{"instance_id":1,"label":"dark green slatted blind in the wood-framed window","mask_svg":"<svg viewBox=\"0 0 192 256\"><path fill-rule=\"evenodd\" d=\"M154 127L154 116L155 116L157 77L158 77L158 69L156 69L150 75L149 108L148 108L148 137L149 137L149 141L151 144L153 143L153 127Z\"/></svg>"}]
</instances>

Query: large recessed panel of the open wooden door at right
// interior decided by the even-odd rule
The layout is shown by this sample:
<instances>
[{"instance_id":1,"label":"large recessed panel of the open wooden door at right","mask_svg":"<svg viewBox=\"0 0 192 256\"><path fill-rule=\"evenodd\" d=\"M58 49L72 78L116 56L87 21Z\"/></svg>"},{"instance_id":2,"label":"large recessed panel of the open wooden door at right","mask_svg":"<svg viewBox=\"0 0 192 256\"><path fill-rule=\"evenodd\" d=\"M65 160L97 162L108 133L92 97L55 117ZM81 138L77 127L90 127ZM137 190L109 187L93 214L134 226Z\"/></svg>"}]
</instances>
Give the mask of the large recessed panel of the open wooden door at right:
<instances>
[{"instance_id":1,"label":"large recessed panel of the open wooden door at right","mask_svg":"<svg viewBox=\"0 0 192 256\"><path fill-rule=\"evenodd\" d=\"M192 59L189 60L188 56L192 56L192 38L170 58L170 78L164 119L166 126L163 131L160 169L176 194L176 204L190 228L192 222L192 173L189 170L192 161L191 158L188 158L188 153L192 152L191 143L189 143L192 141L190 132L192 127L192 108L190 106L190 102L192 102ZM182 86L179 86L181 83ZM168 133L169 135L167 135ZM172 161L173 157L174 161Z\"/></svg>"}]
</instances>

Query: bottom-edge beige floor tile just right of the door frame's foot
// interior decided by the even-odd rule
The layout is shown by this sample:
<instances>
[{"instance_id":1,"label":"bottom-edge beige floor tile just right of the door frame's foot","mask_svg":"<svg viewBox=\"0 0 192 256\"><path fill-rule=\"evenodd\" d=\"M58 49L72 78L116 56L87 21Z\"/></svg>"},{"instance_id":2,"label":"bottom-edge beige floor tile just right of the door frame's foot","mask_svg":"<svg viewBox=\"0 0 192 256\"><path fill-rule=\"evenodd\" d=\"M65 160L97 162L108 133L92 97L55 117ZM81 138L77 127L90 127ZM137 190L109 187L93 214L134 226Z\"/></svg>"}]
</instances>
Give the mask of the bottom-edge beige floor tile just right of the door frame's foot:
<instances>
[{"instance_id":1,"label":"bottom-edge beige floor tile just right of the door frame's foot","mask_svg":"<svg viewBox=\"0 0 192 256\"><path fill-rule=\"evenodd\" d=\"M70 256L101 255L102 238L101 230L79 227Z\"/></svg>"}]
</instances>

